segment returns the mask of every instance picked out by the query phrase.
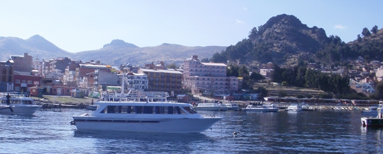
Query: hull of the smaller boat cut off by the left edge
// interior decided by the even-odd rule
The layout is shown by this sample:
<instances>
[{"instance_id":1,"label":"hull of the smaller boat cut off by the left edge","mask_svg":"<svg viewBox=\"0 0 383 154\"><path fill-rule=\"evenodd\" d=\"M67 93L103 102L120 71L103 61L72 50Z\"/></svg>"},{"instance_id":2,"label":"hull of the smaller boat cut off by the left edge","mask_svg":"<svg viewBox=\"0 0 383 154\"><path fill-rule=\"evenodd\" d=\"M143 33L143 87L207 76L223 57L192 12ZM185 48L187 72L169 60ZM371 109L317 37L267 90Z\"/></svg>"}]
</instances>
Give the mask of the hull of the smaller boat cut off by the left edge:
<instances>
[{"instance_id":1,"label":"hull of the smaller boat cut off by the left edge","mask_svg":"<svg viewBox=\"0 0 383 154\"><path fill-rule=\"evenodd\" d=\"M40 105L1 105L0 114L34 114Z\"/></svg>"}]
</instances>

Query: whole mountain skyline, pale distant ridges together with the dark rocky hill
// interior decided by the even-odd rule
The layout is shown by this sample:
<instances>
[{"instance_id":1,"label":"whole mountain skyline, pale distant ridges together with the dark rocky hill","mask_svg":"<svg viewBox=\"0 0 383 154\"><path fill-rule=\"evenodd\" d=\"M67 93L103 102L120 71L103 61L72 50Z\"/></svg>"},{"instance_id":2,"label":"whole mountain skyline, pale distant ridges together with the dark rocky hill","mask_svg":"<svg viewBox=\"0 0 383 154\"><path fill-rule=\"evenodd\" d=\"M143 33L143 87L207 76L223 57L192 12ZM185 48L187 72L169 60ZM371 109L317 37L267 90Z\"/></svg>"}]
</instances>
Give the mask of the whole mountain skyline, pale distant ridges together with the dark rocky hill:
<instances>
[{"instance_id":1,"label":"whole mountain skyline, pale distant ridges together with the dark rocky hill","mask_svg":"<svg viewBox=\"0 0 383 154\"><path fill-rule=\"evenodd\" d=\"M186 47L164 43L155 47L137 47L123 40L112 40L101 49L84 52L66 52L41 36L22 40L0 37L0 61L9 59L10 54L24 52L39 59L68 57L79 61L101 61L118 66L123 63L143 66L146 63L180 65L184 59L198 55L200 59L211 58L217 63L232 61L241 64L273 62L279 65L297 64L298 61L318 63L341 63L342 59L362 56L368 60L383 59L383 29L377 26L364 28L363 36L344 43L338 36L327 34L317 26L308 27L294 15L276 15L265 24L251 29L248 38L228 47Z\"/></svg>"}]
</instances>

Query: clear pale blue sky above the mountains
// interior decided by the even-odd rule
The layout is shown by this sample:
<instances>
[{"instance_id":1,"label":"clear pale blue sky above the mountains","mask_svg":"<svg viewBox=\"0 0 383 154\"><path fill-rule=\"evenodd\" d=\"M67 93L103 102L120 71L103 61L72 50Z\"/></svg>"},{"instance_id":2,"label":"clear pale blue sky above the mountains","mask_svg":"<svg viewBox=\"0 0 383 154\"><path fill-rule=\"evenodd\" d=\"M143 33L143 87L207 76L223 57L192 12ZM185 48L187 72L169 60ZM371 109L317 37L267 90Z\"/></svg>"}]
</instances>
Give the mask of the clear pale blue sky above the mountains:
<instances>
[{"instance_id":1,"label":"clear pale blue sky above the mountains","mask_svg":"<svg viewBox=\"0 0 383 154\"><path fill-rule=\"evenodd\" d=\"M383 28L380 0L0 0L0 36L37 34L67 52L100 49L115 39L139 47L229 46L283 13L345 43L365 27Z\"/></svg>"}]
</instances>

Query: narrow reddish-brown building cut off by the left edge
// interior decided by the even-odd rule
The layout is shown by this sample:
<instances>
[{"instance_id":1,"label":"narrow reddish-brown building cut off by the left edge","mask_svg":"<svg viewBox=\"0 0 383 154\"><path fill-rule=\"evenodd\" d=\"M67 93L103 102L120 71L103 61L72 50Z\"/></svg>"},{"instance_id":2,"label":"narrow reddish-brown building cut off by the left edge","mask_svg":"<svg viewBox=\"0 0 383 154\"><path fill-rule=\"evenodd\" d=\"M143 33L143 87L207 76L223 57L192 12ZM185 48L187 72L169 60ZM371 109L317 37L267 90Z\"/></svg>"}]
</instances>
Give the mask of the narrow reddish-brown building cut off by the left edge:
<instances>
[{"instance_id":1,"label":"narrow reddish-brown building cut off by the left edge","mask_svg":"<svg viewBox=\"0 0 383 154\"><path fill-rule=\"evenodd\" d=\"M13 61L0 62L0 92L13 91Z\"/></svg>"}]
</instances>

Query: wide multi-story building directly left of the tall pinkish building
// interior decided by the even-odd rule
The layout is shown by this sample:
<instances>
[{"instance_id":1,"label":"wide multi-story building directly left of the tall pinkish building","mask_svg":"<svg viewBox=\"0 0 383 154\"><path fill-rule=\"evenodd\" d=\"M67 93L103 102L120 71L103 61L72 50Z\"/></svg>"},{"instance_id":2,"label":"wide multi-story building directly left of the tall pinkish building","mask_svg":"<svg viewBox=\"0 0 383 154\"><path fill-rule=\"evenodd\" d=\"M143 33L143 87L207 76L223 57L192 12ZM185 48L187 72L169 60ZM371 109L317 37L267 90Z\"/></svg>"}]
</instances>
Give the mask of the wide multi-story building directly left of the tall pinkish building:
<instances>
[{"instance_id":1,"label":"wide multi-story building directly left of the tall pinkish building","mask_svg":"<svg viewBox=\"0 0 383 154\"><path fill-rule=\"evenodd\" d=\"M169 95L182 93L182 72L177 70L140 69L148 75L148 91L166 91Z\"/></svg>"}]
</instances>

